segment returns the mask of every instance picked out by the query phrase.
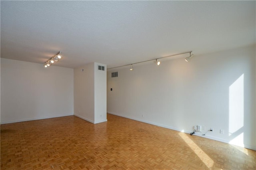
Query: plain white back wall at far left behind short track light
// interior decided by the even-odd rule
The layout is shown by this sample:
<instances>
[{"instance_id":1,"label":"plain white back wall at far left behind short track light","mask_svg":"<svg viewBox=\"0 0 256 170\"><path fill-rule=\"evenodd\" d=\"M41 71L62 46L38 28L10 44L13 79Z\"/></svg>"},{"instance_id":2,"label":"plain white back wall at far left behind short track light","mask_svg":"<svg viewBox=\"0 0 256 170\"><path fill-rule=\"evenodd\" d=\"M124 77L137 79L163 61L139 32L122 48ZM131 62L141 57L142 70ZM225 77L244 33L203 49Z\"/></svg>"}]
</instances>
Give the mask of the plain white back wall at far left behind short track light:
<instances>
[{"instance_id":1,"label":"plain white back wall at far left behind short track light","mask_svg":"<svg viewBox=\"0 0 256 170\"><path fill-rule=\"evenodd\" d=\"M1 124L73 115L73 69L1 58Z\"/></svg>"}]
</instances>

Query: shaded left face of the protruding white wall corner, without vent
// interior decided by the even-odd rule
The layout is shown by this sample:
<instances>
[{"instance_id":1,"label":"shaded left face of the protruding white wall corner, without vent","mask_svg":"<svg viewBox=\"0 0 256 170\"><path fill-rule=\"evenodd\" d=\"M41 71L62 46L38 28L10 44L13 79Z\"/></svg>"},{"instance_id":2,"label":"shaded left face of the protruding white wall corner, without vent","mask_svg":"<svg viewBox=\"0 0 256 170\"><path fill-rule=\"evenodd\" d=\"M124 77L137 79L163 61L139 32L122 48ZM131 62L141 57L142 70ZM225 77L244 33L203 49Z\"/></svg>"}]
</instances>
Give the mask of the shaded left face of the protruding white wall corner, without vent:
<instances>
[{"instance_id":1,"label":"shaded left face of the protruding white wall corner, without vent","mask_svg":"<svg viewBox=\"0 0 256 170\"><path fill-rule=\"evenodd\" d=\"M94 63L74 69L74 115L94 123Z\"/></svg>"}]
</instances>

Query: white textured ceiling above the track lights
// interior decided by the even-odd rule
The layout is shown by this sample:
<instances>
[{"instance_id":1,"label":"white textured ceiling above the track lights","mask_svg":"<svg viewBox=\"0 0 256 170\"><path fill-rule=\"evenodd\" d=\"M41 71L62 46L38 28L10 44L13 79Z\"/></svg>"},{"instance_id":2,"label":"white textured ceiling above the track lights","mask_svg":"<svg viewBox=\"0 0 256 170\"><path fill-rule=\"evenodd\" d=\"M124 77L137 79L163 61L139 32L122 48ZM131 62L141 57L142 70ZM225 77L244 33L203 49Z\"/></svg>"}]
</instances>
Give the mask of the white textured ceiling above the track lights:
<instances>
[{"instance_id":1,"label":"white textured ceiling above the track lights","mask_svg":"<svg viewBox=\"0 0 256 170\"><path fill-rule=\"evenodd\" d=\"M256 1L1 1L1 57L108 68L255 44Z\"/></svg>"}]
</instances>

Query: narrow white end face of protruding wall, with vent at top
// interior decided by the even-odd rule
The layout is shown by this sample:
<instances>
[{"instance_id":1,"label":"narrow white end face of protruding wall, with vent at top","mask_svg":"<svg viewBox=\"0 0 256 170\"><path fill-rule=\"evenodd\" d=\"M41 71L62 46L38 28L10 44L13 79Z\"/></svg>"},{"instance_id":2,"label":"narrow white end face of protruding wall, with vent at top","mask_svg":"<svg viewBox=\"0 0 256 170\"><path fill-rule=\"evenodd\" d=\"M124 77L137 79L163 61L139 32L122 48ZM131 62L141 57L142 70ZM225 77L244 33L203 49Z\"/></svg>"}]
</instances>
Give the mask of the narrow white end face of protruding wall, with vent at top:
<instances>
[{"instance_id":1,"label":"narrow white end face of protruding wall, with vent at top","mask_svg":"<svg viewBox=\"0 0 256 170\"><path fill-rule=\"evenodd\" d=\"M98 70L98 65L104 66ZM107 121L107 65L94 63L94 123Z\"/></svg>"}]
</instances>

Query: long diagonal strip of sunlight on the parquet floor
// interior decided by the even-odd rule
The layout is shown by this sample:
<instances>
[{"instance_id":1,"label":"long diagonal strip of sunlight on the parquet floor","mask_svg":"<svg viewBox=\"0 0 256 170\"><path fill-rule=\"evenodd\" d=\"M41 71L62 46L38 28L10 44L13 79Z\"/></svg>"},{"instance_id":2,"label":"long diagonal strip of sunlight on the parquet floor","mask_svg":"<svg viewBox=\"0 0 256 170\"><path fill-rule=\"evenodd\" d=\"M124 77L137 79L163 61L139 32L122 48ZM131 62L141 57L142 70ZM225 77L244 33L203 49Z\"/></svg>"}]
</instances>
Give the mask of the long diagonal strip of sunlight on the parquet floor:
<instances>
[{"instance_id":1,"label":"long diagonal strip of sunlight on the parquet floor","mask_svg":"<svg viewBox=\"0 0 256 170\"><path fill-rule=\"evenodd\" d=\"M208 168L214 166L214 161L187 134L180 132L179 135Z\"/></svg>"}]
</instances>

